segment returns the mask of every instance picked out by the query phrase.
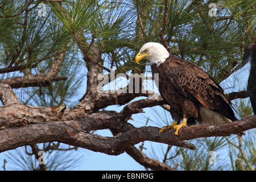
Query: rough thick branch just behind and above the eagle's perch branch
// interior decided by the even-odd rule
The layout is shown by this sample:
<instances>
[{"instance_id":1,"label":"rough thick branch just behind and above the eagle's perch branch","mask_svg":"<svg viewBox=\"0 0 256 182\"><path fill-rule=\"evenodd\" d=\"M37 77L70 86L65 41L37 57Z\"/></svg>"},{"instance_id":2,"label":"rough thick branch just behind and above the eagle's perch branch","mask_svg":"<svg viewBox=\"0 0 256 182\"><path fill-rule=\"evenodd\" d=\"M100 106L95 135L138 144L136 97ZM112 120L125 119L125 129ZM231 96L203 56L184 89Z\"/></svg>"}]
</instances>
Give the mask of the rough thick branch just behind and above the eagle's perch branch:
<instances>
[{"instance_id":1,"label":"rough thick branch just behind and above the eagle's perch branch","mask_svg":"<svg viewBox=\"0 0 256 182\"><path fill-rule=\"evenodd\" d=\"M7 96L5 89L0 90L0 96ZM53 107L36 107L28 106L24 104L6 104L0 107L0 130L8 129L11 127L20 127L29 123L41 123L51 121L63 121L71 119L81 119L88 114L97 112L99 109L104 109L108 105L123 105L130 102L138 96L149 96L152 94L147 90L146 93L129 94L129 93L104 93L96 94L94 96L86 96L84 100L80 102L79 106L73 109L65 109L64 113L55 113ZM248 97L247 91L232 92L226 94L230 100L236 98ZM18 100L18 98L16 98ZM10 102L14 101L13 99ZM7 103L7 102L6 102ZM8 102L9 103L9 102ZM161 96L158 96L155 100L138 100L131 102L123 108L121 115L125 121L127 121L132 114L141 113L145 107L152 107L160 105L164 109L170 110L170 106L166 105Z\"/></svg>"}]
</instances>

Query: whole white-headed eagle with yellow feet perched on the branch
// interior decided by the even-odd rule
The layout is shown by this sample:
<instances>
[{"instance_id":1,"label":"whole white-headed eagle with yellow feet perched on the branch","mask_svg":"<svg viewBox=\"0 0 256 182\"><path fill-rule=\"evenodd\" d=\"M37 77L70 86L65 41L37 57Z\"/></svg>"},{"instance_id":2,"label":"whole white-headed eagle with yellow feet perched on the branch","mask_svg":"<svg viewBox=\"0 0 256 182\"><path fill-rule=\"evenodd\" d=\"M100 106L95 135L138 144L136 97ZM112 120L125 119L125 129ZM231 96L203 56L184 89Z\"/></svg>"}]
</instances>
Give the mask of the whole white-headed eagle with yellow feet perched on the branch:
<instances>
[{"instance_id":1,"label":"whole white-headed eagle with yellow feet perched on the branch","mask_svg":"<svg viewBox=\"0 0 256 182\"><path fill-rule=\"evenodd\" d=\"M188 121L220 124L237 120L224 90L197 65L171 55L162 44L154 42L142 46L135 61L139 64L142 59L150 62L153 77L158 74L159 92L171 106L174 123L160 133L173 127L178 135Z\"/></svg>"}]
</instances>

